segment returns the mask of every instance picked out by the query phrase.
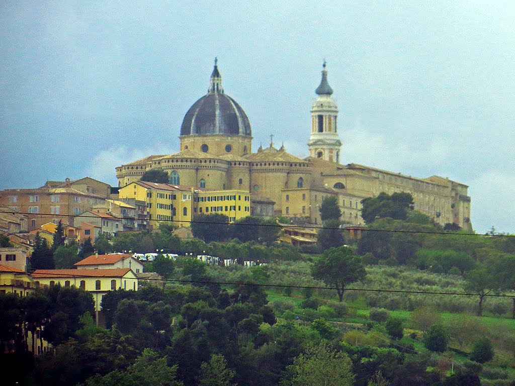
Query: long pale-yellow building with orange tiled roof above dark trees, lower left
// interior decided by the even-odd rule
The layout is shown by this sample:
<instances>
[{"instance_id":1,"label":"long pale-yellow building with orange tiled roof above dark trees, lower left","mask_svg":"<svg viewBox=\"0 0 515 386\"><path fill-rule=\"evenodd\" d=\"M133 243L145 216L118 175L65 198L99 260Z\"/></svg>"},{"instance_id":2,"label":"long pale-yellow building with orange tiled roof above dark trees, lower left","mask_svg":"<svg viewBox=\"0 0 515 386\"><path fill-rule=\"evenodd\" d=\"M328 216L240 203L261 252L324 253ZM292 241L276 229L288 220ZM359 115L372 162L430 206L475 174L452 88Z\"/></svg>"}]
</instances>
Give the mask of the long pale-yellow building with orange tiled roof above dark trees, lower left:
<instances>
[{"instance_id":1,"label":"long pale-yellow building with orange tiled roof above dark trees, lower left","mask_svg":"<svg viewBox=\"0 0 515 386\"><path fill-rule=\"evenodd\" d=\"M138 277L130 268L114 269L38 269L32 272L36 286L77 287L91 292L95 311L100 311L102 296L117 289L138 290Z\"/></svg>"}]
</instances>

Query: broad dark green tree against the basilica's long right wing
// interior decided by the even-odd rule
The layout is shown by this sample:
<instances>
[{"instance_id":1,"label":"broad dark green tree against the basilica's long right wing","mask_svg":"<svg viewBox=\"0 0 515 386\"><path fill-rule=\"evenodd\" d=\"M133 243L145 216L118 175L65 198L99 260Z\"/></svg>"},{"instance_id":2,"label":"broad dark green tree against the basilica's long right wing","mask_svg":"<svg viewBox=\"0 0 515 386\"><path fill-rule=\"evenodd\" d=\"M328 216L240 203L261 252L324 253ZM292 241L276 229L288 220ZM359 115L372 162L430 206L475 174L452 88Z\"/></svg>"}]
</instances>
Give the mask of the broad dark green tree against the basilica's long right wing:
<instances>
[{"instance_id":1,"label":"broad dark green tree against the basilica's long right wing","mask_svg":"<svg viewBox=\"0 0 515 386\"><path fill-rule=\"evenodd\" d=\"M376 218L406 220L408 209L413 209L414 205L413 197L405 192L393 193L391 196L381 192L377 197L361 200L361 203L361 217L367 224Z\"/></svg>"}]
</instances>

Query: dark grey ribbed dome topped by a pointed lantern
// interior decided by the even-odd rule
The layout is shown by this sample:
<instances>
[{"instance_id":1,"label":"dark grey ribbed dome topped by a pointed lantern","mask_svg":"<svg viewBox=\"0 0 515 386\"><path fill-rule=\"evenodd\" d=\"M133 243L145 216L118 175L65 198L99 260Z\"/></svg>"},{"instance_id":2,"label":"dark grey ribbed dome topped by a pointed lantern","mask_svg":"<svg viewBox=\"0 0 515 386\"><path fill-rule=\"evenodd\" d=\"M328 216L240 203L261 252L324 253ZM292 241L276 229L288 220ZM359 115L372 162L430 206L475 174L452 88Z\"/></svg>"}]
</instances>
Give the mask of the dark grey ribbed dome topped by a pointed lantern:
<instances>
[{"instance_id":1,"label":"dark grey ribbed dome topped by a pointed lantern","mask_svg":"<svg viewBox=\"0 0 515 386\"><path fill-rule=\"evenodd\" d=\"M251 136L249 118L239 104L224 93L215 62L209 92L193 103L181 126L181 135Z\"/></svg>"}]
</instances>

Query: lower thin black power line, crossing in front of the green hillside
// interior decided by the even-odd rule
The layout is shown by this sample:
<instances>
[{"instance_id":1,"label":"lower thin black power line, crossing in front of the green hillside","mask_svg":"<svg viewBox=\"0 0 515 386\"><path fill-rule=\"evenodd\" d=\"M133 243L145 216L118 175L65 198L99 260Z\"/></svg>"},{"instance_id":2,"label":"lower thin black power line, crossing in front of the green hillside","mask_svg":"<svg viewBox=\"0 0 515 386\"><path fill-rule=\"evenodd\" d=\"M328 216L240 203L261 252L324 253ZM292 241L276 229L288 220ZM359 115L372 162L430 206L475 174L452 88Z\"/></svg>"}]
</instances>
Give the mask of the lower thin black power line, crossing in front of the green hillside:
<instances>
[{"instance_id":1,"label":"lower thin black power line, crossing in front of the green hillside","mask_svg":"<svg viewBox=\"0 0 515 386\"><path fill-rule=\"evenodd\" d=\"M44 274L37 273L38 275ZM48 275L59 277L94 277L91 275L70 275L58 272L49 272ZM50 278L47 276L46 278ZM249 286L249 287L279 287L279 288L309 288L309 289L329 289L329 290L344 290L344 291L362 291L362 292L385 292L385 293L406 293L406 294L425 294L425 295L459 295L459 296L480 296L479 293L467 293L467 292L440 292L440 291L415 291L415 290L392 290L392 289L375 289L375 288L352 288L352 287L321 287L321 286L299 286L290 284L262 284L262 283L234 283L234 282L210 282L208 280L184 280L184 279L157 279L157 278L144 278L143 281L155 281L155 282L171 282L171 283L188 283L188 284L216 284L226 286ZM485 294L482 296L492 297L515 297L507 294Z\"/></svg>"}]
</instances>

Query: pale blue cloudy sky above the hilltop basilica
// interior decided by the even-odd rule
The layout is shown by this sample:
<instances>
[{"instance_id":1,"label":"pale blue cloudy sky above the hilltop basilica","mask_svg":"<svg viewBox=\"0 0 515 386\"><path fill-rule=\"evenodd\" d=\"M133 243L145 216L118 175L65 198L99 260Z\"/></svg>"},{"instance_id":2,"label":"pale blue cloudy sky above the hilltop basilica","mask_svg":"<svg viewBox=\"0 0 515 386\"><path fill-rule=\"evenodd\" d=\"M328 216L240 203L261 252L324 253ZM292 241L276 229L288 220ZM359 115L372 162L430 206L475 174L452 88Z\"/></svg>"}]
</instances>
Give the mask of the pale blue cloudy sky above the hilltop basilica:
<instances>
[{"instance_id":1,"label":"pale blue cloudy sky above the hilltop basilica","mask_svg":"<svg viewBox=\"0 0 515 386\"><path fill-rule=\"evenodd\" d=\"M185 3L191 3L185 6ZM515 232L515 2L1 2L0 189L179 150L214 57L253 147L307 156L328 61L341 163L470 186Z\"/></svg>"}]
</instances>

